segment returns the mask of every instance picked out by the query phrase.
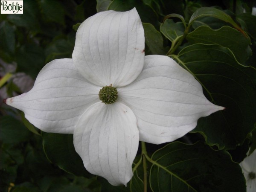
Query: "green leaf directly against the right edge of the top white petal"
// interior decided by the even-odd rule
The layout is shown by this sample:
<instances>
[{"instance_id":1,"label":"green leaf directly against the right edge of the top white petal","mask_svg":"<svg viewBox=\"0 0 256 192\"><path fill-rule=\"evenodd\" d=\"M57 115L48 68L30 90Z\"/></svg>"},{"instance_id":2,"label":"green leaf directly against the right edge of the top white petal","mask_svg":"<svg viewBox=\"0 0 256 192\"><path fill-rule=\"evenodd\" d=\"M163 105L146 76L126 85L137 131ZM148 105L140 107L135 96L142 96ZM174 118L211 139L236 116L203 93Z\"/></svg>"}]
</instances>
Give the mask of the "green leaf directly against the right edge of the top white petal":
<instances>
[{"instance_id":1,"label":"green leaf directly against the right edge of the top white petal","mask_svg":"<svg viewBox=\"0 0 256 192\"><path fill-rule=\"evenodd\" d=\"M163 47L163 37L150 23L143 23L145 33L145 55L165 55L168 48Z\"/></svg>"}]
</instances>

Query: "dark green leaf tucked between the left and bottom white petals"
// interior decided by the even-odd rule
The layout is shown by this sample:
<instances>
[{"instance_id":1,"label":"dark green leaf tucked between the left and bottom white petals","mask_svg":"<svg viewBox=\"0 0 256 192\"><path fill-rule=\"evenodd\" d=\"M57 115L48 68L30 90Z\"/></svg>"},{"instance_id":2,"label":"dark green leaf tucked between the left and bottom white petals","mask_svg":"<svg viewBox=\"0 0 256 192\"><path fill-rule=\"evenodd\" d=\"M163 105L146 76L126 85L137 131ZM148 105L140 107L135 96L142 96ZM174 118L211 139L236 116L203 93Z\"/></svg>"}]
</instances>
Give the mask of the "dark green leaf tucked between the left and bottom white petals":
<instances>
[{"instance_id":1,"label":"dark green leaf tucked between the left and bottom white petals","mask_svg":"<svg viewBox=\"0 0 256 192\"><path fill-rule=\"evenodd\" d=\"M54 134L42 132L44 152L51 163L57 164L66 172L77 176L90 176L83 161L76 153L73 134Z\"/></svg>"}]
</instances>

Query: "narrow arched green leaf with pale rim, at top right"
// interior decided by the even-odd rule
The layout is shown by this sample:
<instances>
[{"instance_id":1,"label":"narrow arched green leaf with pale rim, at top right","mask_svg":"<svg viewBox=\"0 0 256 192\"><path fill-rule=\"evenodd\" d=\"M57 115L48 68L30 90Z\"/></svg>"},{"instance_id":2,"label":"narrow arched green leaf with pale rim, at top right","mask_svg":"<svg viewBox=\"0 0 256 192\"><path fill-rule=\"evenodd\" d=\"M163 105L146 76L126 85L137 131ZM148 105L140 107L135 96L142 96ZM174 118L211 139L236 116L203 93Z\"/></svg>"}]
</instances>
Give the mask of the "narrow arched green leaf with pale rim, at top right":
<instances>
[{"instance_id":1,"label":"narrow arched green leaf with pale rim, at top right","mask_svg":"<svg viewBox=\"0 0 256 192\"><path fill-rule=\"evenodd\" d=\"M190 17L189 26L200 17L215 17L220 20L224 20L225 22L233 25L237 30L239 30L241 33L243 33L244 36L247 36L244 33L243 29L241 29L241 27L229 15L227 15L225 12L223 12L219 9L215 9L212 7L201 7L199 9L197 9L194 12L194 14Z\"/></svg>"}]
</instances>

